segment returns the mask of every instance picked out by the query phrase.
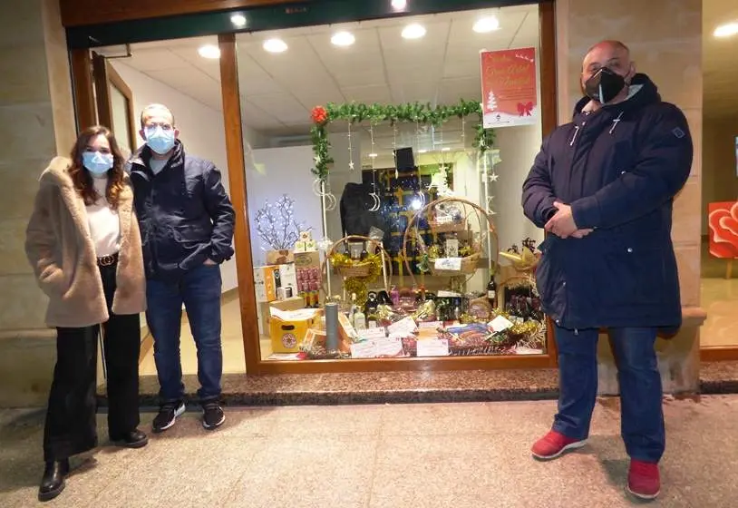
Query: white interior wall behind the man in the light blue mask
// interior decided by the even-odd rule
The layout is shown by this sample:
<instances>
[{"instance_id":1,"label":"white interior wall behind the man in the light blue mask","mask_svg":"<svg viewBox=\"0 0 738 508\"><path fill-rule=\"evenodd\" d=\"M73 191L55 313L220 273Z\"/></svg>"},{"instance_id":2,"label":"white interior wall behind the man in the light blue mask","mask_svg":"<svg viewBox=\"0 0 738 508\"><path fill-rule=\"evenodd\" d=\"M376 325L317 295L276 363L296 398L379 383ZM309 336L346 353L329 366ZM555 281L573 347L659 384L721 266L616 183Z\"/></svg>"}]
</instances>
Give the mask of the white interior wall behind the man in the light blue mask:
<instances>
[{"instance_id":1,"label":"white interior wall behind the man in the light blue mask","mask_svg":"<svg viewBox=\"0 0 738 508\"><path fill-rule=\"evenodd\" d=\"M136 119L138 120L139 113L147 104L163 103L169 107L180 130L180 140L185 150L212 161L220 170L223 185L229 191L223 113L132 69L121 60L110 62L131 88ZM140 134L136 136L136 143L137 146L143 144ZM220 271L223 277L223 292L238 287L235 256L223 263Z\"/></svg>"}]
</instances>

